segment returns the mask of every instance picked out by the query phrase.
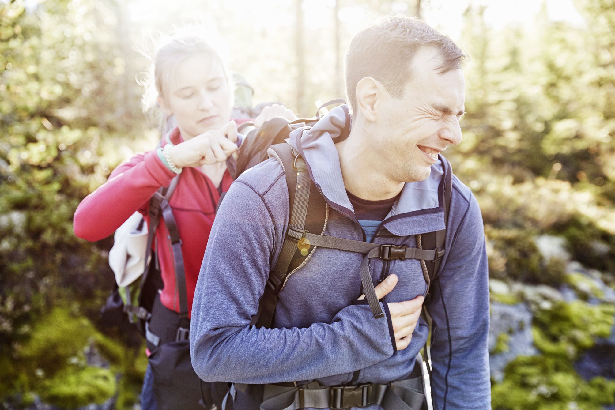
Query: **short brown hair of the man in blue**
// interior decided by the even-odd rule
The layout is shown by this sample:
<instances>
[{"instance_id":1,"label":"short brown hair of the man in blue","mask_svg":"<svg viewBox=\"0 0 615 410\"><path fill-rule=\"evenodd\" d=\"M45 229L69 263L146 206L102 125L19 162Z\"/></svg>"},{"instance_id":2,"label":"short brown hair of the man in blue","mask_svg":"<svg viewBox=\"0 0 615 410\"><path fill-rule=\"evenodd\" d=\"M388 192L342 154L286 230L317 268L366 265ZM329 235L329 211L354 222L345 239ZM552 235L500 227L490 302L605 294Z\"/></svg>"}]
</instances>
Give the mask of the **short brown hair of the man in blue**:
<instances>
[{"instance_id":1,"label":"short brown hair of the man in blue","mask_svg":"<svg viewBox=\"0 0 615 410\"><path fill-rule=\"evenodd\" d=\"M384 17L354 36L346 53L346 92L352 112L357 112L357 83L365 77L373 77L392 97L401 98L413 76L410 62L424 46L440 50L439 74L461 68L468 58L450 38L417 18Z\"/></svg>"}]
</instances>

